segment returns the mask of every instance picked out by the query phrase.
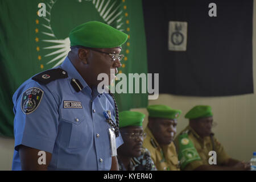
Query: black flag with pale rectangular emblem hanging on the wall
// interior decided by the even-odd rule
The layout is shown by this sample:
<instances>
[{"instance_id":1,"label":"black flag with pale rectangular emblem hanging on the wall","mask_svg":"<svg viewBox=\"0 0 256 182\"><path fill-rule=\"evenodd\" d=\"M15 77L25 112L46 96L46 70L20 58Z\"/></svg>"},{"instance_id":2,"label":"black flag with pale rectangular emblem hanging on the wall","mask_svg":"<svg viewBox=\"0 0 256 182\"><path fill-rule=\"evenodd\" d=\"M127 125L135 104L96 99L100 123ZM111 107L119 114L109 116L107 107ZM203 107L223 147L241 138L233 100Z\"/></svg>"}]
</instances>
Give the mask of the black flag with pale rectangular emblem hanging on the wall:
<instances>
[{"instance_id":1,"label":"black flag with pale rectangular emblem hanging on the wall","mask_svg":"<svg viewBox=\"0 0 256 182\"><path fill-rule=\"evenodd\" d=\"M143 13L148 73L159 73L160 93L253 93L252 0L144 0Z\"/></svg>"}]
</instances>

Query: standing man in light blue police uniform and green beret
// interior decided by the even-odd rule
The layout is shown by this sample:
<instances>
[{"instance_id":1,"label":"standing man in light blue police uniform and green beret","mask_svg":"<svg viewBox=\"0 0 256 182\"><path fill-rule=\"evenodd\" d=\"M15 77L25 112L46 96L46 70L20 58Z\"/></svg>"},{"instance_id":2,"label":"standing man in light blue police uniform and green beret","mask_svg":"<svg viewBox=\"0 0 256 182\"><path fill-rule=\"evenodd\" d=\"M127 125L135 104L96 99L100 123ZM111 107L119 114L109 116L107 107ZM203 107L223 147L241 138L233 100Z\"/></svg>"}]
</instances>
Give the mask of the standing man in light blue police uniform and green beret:
<instances>
[{"instance_id":1,"label":"standing man in light blue police uniform and green beret","mask_svg":"<svg viewBox=\"0 0 256 182\"><path fill-rule=\"evenodd\" d=\"M28 79L13 96L13 170L118 169L118 109L113 94L98 92L97 75L121 67L127 35L93 21L69 38L63 64Z\"/></svg>"}]
</instances>

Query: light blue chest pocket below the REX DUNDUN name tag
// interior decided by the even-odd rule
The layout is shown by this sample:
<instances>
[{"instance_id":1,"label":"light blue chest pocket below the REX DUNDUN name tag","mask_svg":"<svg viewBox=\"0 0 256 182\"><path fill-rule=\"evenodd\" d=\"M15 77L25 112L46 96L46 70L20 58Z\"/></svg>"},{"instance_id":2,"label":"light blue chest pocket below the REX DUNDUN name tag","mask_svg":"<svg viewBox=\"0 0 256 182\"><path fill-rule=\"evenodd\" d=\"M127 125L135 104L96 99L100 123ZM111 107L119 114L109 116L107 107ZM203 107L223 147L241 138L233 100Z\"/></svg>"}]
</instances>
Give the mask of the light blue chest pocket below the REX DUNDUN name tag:
<instances>
[{"instance_id":1,"label":"light blue chest pocket below the REX DUNDUN name tag","mask_svg":"<svg viewBox=\"0 0 256 182\"><path fill-rule=\"evenodd\" d=\"M86 131L85 113L78 109L62 109L61 120L72 123L71 134L69 137L68 148L81 148L84 147L85 142L82 138Z\"/></svg>"}]
</instances>

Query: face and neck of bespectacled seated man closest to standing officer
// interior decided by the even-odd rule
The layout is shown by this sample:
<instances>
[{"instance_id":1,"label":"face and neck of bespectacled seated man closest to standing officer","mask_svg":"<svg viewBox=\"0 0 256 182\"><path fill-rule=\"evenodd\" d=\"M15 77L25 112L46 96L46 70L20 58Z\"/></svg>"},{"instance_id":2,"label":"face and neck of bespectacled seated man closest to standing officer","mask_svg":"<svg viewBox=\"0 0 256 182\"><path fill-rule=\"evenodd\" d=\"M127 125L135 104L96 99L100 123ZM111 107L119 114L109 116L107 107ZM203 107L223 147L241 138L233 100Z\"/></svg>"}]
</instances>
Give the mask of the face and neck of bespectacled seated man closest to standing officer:
<instances>
[{"instance_id":1,"label":"face and neck of bespectacled seated man closest to standing officer","mask_svg":"<svg viewBox=\"0 0 256 182\"><path fill-rule=\"evenodd\" d=\"M120 129L123 144L117 150L118 158L122 161L126 169L128 169L131 158L138 157L141 155L143 138L137 137L131 139L127 133L141 134L143 128L141 126L127 126Z\"/></svg>"}]
</instances>

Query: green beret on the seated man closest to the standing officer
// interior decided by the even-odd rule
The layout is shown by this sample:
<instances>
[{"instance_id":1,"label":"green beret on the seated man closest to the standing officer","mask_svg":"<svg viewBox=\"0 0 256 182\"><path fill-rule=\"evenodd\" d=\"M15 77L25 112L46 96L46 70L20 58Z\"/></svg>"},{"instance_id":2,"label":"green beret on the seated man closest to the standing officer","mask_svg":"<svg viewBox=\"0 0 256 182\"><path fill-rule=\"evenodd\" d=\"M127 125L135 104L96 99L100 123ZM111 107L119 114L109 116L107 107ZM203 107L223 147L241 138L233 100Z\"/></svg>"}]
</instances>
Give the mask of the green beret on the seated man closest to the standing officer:
<instances>
[{"instance_id":1,"label":"green beret on the seated man closest to the standing officer","mask_svg":"<svg viewBox=\"0 0 256 182\"><path fill-rule=\"evenodd\" d=\"M119 127L142 126L145 114L136 111L122 111L119 113Z\"/></svg>"}]
</instances>

